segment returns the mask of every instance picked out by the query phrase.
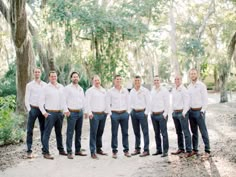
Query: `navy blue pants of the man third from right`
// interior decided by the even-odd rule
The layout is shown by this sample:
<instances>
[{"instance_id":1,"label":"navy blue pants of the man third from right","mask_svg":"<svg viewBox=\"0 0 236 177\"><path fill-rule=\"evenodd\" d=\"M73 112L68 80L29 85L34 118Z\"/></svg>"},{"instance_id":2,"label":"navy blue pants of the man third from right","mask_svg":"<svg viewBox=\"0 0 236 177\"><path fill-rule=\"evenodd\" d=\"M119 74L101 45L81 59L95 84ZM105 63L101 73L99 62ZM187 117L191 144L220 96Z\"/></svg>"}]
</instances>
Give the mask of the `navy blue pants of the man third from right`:
<instances>
[{"instance_id":1,"label":"navy blue pants of the man third from right","mask_svg":"<svg viewBox=\"0 0 236 177\"><path fill-rule=\"evenodd\" d=\"M164 119L163 114L151 115L151 118L152 118L153 129L155 132L156 149L159 152L168 153L169 140L167 132L167 118ZM161 135L163 139L163 148L161 143Z\"/></svg>"}]
</instances>

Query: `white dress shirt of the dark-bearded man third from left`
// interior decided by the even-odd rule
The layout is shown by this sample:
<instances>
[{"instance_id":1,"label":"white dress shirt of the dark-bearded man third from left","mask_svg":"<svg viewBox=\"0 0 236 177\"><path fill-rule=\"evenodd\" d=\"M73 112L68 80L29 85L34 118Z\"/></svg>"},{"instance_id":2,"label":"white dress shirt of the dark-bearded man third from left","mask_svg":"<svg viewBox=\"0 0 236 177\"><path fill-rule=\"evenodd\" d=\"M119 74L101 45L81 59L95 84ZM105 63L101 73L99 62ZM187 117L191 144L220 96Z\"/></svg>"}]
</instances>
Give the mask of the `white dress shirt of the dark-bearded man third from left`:
<instances>
[{"instance_id":1,"label":"white dress shirt of the dark-bearded man third from left","mask_svg":"<svg viewBox=\"0 0 236 177\"><path fill-rule=\"evenodd\" d=\"M84 109L85 96L84 90L78 84L69 84L65 87L66 105L69 109Z\"/></svg>"}]
</instances>

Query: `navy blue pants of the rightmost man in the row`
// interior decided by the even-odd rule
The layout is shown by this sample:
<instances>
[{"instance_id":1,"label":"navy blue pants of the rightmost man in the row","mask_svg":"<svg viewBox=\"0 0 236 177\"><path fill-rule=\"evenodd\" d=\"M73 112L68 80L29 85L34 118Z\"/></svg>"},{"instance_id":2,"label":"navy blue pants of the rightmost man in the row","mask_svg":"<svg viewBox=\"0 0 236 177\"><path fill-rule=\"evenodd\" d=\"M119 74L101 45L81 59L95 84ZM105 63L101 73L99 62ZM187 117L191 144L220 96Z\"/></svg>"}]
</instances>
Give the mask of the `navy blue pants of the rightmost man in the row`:
<instances>
[{"instance_id":1,"label":"navy blue pants of the rightmost man in the row","mask_svg":"<svg viewBox=\"0 0 236 177\"><path fill-rule=\"evenodd\" d=\"M210 141L205 123L205 113L200 111L189 110L190 128L192 131L193 150L198 151L198 128L202 134L205 144L205 152L210 153Z\"/></svg>"}]
</instances>

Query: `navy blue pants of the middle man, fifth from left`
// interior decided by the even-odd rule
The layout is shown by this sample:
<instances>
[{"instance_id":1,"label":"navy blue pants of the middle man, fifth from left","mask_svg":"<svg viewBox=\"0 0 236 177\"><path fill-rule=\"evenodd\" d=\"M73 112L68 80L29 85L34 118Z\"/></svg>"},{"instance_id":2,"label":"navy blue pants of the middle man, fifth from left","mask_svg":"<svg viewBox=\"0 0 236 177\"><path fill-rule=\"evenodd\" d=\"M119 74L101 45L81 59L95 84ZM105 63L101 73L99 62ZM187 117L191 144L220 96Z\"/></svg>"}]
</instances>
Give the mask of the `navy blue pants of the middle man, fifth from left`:
<instances>
[{"instance_id":1,"label":"navy blue pants of the middle man, fifth from left","mask_svg":"<svg viewBox=\"0 0 236 177\"><path fill-rule=\"evenodd\" d=\"M121 127L121 133L122 133L122 144L123 144L123 152L129 151L129 134L128 134L128 128L129 128L129 114L127 112L124 112L122 114L114 113L112 112L111 115L111 148L113 153L117 153L117 147L118 147L118 129L119 125Z\"/></svg>"}]
</instances>

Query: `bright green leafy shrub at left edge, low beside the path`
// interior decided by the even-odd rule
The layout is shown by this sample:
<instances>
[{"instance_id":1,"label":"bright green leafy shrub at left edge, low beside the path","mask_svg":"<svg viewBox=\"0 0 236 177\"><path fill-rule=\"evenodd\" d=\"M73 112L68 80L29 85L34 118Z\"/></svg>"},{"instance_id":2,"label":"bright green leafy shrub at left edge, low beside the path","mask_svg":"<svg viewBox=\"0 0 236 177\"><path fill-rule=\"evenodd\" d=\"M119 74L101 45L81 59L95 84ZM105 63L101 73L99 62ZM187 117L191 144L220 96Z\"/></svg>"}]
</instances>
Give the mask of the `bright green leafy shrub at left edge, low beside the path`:
<instances>
[{"instance_id":1,"label":"bright green leafy shrub at left edge, low beside the path","mask_svg":"<svg viewBox=\"0 0 236 177\"><path fill-rule=\"evenodd\" d=\"M17 143L23 138L24 118L14 113L15 103L15 96L0 97L0 145Z\"/></svg>"}]
</instances>

